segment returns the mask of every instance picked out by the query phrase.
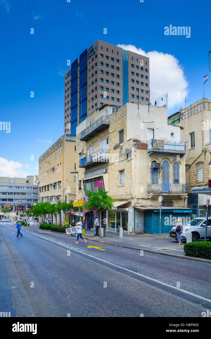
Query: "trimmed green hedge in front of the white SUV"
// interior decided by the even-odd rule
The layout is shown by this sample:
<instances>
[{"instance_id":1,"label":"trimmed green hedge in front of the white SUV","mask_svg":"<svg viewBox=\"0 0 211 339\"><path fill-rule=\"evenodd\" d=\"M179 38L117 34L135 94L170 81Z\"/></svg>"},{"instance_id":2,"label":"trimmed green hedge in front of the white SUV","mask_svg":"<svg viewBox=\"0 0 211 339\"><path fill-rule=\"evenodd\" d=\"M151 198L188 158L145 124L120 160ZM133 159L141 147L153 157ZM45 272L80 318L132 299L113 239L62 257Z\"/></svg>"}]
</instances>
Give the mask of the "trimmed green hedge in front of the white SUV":
<instances>
[{"instance_id":1,"label":"trimmed green hedge in front of the white SUV","mask_svg":"<svg viewBox=\"0 0 211 339\"><path fill-rule=\"evenodd\" d=\"M194 241L184 244L186 256L211 259L211 241Z\"/></svg>"}]
</instances>

